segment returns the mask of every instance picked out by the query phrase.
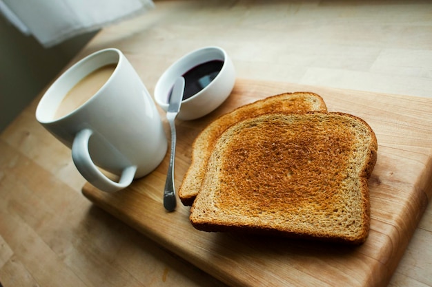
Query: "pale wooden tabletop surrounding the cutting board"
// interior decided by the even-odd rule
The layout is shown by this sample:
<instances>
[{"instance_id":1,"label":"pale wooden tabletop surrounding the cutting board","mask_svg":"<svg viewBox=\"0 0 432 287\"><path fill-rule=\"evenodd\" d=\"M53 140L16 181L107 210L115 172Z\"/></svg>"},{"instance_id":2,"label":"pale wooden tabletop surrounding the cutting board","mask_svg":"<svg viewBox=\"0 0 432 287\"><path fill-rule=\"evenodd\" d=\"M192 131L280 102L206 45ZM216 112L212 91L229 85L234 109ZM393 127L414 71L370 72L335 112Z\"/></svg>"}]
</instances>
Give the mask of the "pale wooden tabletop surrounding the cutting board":
<instances>
[{"instance_id":1,"label":"pale wooden tabletop surrounding the cutting board","mask_svg":"<svg viewBox=\"0 0 432 287\"><path fill-rule=\"evenodd\" d=\"M70 64L117 47L153 94L173 61L219 45L239 78L432 97L430 1L155 4L99 32ZM0 136L1 284L224 286L84 198L70 151L35 120L40 96ZM389 286L432 286L431 270L429 204Z\"/></svg>"}]
</instances>

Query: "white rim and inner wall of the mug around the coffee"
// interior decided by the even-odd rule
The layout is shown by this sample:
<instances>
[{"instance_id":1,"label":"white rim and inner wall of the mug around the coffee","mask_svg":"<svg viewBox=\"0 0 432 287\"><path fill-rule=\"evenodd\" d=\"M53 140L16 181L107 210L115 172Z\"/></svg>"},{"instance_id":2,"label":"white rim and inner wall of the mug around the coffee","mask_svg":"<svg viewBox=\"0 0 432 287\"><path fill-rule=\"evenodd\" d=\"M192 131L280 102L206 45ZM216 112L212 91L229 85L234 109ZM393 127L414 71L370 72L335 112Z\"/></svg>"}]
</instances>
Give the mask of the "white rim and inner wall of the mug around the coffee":
<instances>
[{"instance_id":1,"label":"white rim and inner wall of the mug around the coffee","mask_svg":"<svg viewBox=\"0 0 432 287\"><path fill-rule=\"evenodd\" d=\"M107 58L104 59L104 61L97 62L97 60L93 60L93 62L91 62L92 59L97 59L101 56L104 56L104 54L111 54L111 53L115 53L115 55L117 56L115 61L112 61L112 59L110 59L110 57L107 55ZM117 48L110 47L110 48L106 48L103 50L99 50L97 52L93 52L92 54L89 54L88 56L84 57L83 59L77 61L77 63L68 67L68 69L66 71L64 71L60 76L58 76L55 79L55 81L50 85L50 87L48 87L46 92L43 93L43 96L39 100L39 103L38 103L37 108L36 108L36 115L35 116L36 116L37 121L39 123L44 123L44 124L55 123L59 120L62 120L63 118L68 118L70 115L75 114L77 111L79 111L84 106L86 106L88 103L90 103L90 101L92 101L93 98L95 98L98 94L101 93L101 91L103 91L106 88L108 83L110 83L110 81L112 80L113 76L115 74L117 74L117 70L118 70L118 67L121 64L121 62L122 62L121 51L118 50ZM88 76L89 74L91 74L92 72L97 70L98 68L103 67L104 65L108 65L110 63L116 64L115 70L112 72L112 74L110 75L108 80L104 83L104 85L102 85L97 90L97 92L95 92L95 94L90 96L90 98L88 98L88 100L86 100L86 102L79 105L79 107L70 111L68 114L63 115L63 116L58 117L58 118L54 117L55 111L57 111L57 108L61 104L61 101L66 97L66 95L68 94L70 89L72 89L72 87L77 85L77 83L79 83L79 81L84 79L86 76ZM87 69L87 70L86 70L86 72L82 73L82 71L80 71L80 69ZM66 89L63 88L63 91L59 92L57 94L56 91L58 91L58 89L61 89L61 85L63 85L63 83L66 83L66 81L68 81L68 78L71 76L72 76L72 78L75 78L74 81L72 81L71 83L68 83L69 87Z\"/></svg>"}]
</instances>

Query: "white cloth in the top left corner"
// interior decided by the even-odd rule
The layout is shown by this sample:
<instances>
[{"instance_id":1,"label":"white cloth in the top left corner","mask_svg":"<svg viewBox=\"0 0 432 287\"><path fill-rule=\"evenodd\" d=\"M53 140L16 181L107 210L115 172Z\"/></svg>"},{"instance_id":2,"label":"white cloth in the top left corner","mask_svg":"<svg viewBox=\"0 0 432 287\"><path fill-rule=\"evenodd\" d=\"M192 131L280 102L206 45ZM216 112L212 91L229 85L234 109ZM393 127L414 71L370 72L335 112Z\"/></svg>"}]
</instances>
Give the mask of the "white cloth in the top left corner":
<instances>
[{"instance_id":1,"label":"white cloth in the top left corner","mask_svg":"<svg viewBox=\"0 0 432 287\"><path fill-rule=\"evenodd\" d=\"M44 47L153 8L152 0L0 0L0 12Z\"/></svg>"}]
</instances>

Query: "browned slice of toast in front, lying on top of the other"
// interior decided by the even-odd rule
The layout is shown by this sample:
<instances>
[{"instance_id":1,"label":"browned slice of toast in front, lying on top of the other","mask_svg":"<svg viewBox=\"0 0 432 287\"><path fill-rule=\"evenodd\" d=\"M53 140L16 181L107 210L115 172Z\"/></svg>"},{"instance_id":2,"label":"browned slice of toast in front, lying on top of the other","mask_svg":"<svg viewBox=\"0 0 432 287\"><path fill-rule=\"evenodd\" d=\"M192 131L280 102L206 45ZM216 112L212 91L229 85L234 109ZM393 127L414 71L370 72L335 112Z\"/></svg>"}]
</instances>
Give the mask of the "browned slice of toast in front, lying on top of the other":
<instances>
[{"instance_id":1,"label":"browned slice of toast in front, lying on top of the other","mask_svg":"<svg viewBox=\"0 0 432 287\"><path fill-rule=\"evenodd\" d=\"M369 233L368 178L377 140L342 113L266 114L217 140L190 222L360 244Z\"/></svg>"}]
</instances>

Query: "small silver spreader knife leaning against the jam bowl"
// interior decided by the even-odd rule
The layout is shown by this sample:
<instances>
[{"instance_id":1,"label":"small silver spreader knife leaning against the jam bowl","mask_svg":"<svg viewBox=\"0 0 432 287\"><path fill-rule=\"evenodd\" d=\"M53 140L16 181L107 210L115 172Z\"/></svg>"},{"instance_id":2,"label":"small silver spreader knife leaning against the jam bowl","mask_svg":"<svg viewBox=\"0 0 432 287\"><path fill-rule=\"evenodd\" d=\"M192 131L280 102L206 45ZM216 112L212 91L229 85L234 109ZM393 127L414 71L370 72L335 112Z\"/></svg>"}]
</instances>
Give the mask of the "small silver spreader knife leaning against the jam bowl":
<instances>
[{"instance_id":1,"label":"small silver spreader knife leaning against the jam bowl","mask_svg":"<svg viewBox=\"0 0 432 287\"><path fill-rule=\"evenodd\" d=\"M181 100L184 93L184 78L180 76L174 83L173 92L171 93L166 112L166 119L170 124L171 129L171 156L170 165L168 167L168 174L166 176L165 190L164 190L164 207L167 211L174 211L176 206L175 200L175 186L174 186L174 161L175 161L175 118L179 114Z\"/></svg>"}]
</instances>

